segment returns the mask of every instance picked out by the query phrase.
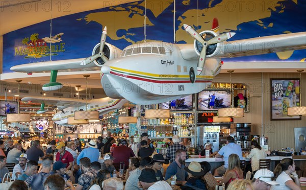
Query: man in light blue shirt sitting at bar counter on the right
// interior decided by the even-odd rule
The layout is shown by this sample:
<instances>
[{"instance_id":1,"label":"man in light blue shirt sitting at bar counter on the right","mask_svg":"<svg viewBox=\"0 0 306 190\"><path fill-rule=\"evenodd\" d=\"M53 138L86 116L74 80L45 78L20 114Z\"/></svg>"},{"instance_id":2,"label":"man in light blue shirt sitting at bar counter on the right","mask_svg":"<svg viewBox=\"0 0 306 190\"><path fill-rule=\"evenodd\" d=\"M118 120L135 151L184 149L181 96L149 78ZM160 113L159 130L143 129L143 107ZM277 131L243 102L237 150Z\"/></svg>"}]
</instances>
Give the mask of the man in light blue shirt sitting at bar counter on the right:
<instances>
[{"instance_id":1,"label":"man in light blue shirt sitting at bar counter on the right","mask_svg":"<svg viewBox=\"0 0 306 190\"><path fill-rule=\"evenodd\" d=\"M240 160L242 159L242 150L240 145L237 145L235 143L234 137L228 136L226 137L226 146L222 147L216 154L216 158L220 158L223 156L224 165L221 165L221 167L215 169L214 176L225 174L226 169L228 168L228 157L231 154L237 154Z\"/></svg>"}]
</instances>

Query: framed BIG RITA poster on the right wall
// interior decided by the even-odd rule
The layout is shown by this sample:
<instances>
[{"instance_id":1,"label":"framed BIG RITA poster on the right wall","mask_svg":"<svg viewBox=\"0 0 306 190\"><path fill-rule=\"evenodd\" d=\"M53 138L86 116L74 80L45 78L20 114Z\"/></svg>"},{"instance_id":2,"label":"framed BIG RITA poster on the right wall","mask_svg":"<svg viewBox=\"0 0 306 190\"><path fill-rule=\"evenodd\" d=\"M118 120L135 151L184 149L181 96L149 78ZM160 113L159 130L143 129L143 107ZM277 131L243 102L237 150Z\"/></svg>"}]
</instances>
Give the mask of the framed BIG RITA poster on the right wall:
<instances>
[{"instance_id":1,"label":"framed BIG RITA poster on the right wall","mask_svg":"<svg viewBox=\"0 0 306 190\"><path fill-rule=\"evenodd\" d=\"M288 116L288 108L300 106L299 79L270 79L271 120L301 120L300 116Z\"/></svg>"}]
</instances>

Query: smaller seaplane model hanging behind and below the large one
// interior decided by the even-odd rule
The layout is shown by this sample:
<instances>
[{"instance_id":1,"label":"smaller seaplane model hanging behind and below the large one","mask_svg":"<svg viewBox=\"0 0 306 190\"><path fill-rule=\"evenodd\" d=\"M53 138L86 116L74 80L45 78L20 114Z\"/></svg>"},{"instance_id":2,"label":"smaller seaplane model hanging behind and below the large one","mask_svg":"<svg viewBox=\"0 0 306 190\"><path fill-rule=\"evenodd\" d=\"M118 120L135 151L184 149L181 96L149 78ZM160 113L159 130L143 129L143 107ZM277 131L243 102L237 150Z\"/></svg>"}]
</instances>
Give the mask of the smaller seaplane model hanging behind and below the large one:
<instances>
[{"instance_id":1,"label":"smaller seaplane model hanging behind and below the large one","mask_svg":"<svg viewBox=\"0 0 306 190\"><path fill-rule=\"evenodd\" d=\"M55 105L59 110L54 114L52 120L59 125L66 125L68 117L73 117L74 111L86 110L86 100L77 100L69 98L53 98L53 97L24 97L24 102L41 103L40 110L36 113L44 113L44 105ZM88 111L98 111L99 115L106 114L110 111L120 109L127 101L124 99L100 98L89 100L87 104ZM115 112L117 113L117 112Z\"/></svg>"}]
</instances>

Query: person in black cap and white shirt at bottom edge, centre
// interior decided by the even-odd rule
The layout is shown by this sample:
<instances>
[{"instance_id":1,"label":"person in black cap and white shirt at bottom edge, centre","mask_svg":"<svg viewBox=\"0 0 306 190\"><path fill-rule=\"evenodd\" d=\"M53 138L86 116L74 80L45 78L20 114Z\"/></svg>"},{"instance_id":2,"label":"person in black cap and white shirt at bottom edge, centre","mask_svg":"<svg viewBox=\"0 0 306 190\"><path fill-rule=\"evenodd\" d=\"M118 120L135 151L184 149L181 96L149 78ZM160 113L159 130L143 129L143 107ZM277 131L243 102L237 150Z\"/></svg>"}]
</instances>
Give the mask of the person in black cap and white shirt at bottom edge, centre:
<instances>
[{"instance_id":1,"label":"person in black cap and white shirt at bottom edge, centre","mask_svg":"<svg viewBox=\"0 0 306 190\"><path fill-rule=\"evenodd\" d=\"M158 181L155 177L155 171L149 168L143 169L139 176L139 186L147 190L171 190L172 187L166 181Z\"/></svg>"}]
</instances>

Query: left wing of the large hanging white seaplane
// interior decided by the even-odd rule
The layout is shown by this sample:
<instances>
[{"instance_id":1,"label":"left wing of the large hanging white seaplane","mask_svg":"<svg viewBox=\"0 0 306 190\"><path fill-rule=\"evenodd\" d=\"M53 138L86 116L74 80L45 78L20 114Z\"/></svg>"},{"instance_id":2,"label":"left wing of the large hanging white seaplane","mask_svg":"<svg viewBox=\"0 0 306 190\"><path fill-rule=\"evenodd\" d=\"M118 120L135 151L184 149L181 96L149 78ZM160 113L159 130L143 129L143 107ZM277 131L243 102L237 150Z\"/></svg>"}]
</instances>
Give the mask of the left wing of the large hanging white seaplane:
<instances>
[{"instance_id":1,"label":"left wing of the large hanging white seaplane","mask_svg":"<svg viewBox=\"0 0 306 190\"><path fill-rule=\"evenodd\" d=\"M94 62L88 65L81 65L81 62L84 59L85 58L21 64L11 67L11 70L21 73L42 73L49 72L50 70L58 70L59 72L72 72L100 69L100 67L96 66Z\"/></svg>"}]
</instances>

